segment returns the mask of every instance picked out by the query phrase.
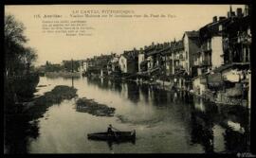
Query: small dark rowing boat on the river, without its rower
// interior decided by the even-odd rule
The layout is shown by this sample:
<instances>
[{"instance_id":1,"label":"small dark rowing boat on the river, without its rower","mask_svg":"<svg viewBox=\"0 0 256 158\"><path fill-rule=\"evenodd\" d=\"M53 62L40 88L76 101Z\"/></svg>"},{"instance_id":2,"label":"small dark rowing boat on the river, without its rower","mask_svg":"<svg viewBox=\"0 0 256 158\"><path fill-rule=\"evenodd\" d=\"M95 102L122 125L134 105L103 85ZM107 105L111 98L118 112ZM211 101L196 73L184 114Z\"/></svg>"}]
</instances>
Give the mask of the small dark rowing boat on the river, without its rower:
<instances>
[{"instance_id":1,"label":"small dark rowing boat on the river, without its rower","mask_svg":"<svg viewBox=\"0 0 256 158\"><path fill-rule=\"evenodd\" d=\"M87 134L88 139L104 140L104 141L134 141L136 139L136 131L133 132L95 132Z\"/></svg>"}]
</instances>

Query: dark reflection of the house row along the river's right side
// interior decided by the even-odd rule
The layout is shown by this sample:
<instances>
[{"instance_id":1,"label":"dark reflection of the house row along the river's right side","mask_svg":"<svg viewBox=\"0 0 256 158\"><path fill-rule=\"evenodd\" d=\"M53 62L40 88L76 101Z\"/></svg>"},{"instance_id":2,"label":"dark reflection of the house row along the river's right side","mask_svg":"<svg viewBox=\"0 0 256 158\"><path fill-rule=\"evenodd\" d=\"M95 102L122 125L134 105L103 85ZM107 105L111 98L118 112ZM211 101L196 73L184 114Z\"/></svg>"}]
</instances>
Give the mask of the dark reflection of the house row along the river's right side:
<instances>
[{"instance_id":1,"label":"dark reflection of the house row along the river's right side","mask_svg":"<svg viewBox=\"0 0 256 158\"><path fill-rule=\"evenodd\" d=\"M97 83L96 80L93 82ZM101 82L101 79L100 79ZM101 83L98 81L98 85ZM100 83L100 84L99 84ZM104 81L103 81L104 83ZM219 105L203 101L182 92L166 92L154 86L139 85L135 82L106 82L109 89L117 89L121 97L137 103L145 100L153 105L174 106L184 122L190 123L191 143L200 144L206 152L247 151L249 140L248 111L242 106ZM109 86L110 85L110 86ZM103 87L103 86L101 86Z\"/></svg>"}]
</instances>

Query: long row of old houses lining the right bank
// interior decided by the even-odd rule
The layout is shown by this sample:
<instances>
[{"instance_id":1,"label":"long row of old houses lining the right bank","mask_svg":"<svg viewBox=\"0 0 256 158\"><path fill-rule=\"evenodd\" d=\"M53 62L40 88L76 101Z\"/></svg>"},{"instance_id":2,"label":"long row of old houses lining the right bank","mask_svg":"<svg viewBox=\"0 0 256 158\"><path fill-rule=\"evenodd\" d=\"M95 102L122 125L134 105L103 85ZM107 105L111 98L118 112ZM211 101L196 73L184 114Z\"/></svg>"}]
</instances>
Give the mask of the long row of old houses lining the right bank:
<instances>
[{"instance_id":1,"label":"long row of old houses lining the right bank","mask_svg":"<svg viewBox=\"0 0 256 158\"><path fill-rule=\"evenodd\" d=\"M180 40L87 59L83 71L155 81L223 103L248 101L250 11L248 6L236 12L230 7L228 16L214 16L206 26L185 31Z\"/></svg>"}]
</instances>

